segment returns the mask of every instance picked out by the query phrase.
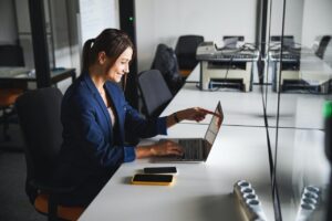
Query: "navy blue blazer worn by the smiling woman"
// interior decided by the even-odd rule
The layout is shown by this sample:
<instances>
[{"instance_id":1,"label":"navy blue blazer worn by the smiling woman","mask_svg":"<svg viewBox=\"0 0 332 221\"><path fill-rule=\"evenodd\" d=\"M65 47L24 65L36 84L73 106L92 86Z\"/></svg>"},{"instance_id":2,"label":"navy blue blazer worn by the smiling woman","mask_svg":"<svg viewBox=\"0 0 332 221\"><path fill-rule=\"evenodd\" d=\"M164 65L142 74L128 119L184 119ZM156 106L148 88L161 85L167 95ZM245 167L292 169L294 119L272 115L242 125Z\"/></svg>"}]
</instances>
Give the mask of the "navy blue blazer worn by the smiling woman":
<instances>
[{"instance_id":1,"label":"navy blue blazer worn by the smiling woman","mask_svg":"<svg viewBox=\"0 0 332 221\"><path fill-rule=\"evenodd\" d=\"M146 120L125 101L112 82L104 88L114 107L116 124L92 82L82 74L65 92L61 120L63 145L55 180L63 185L94 183L110 179L122 162L135 159L135 147L125 146L125 137L146 138L166 135L166 117Z\"/></svg>"}]
</instances>

